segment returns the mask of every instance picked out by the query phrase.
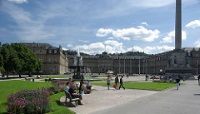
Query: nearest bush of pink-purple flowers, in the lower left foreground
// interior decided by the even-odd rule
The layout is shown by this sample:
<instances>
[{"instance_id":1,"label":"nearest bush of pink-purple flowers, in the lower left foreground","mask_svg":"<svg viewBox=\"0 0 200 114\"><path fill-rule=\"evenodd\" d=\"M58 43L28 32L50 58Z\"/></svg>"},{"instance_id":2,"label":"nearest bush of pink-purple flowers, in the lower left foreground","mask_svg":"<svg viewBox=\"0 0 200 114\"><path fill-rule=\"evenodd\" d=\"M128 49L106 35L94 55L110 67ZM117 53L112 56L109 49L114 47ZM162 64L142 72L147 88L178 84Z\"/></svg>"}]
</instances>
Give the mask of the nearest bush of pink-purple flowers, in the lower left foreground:
<instances>
[{"instance_id":1,"label":"nearest bush of pink-purple flowers, in the lower left foreground","mask_svg":"<svg viewBox=\"0 0 200 114\"><path fill-rule=\"evenodd\" d=\"M46 89L23 90L8 96L10 114L44 114L50 111L50 95Z\"/></svg>"}]
</instances>

